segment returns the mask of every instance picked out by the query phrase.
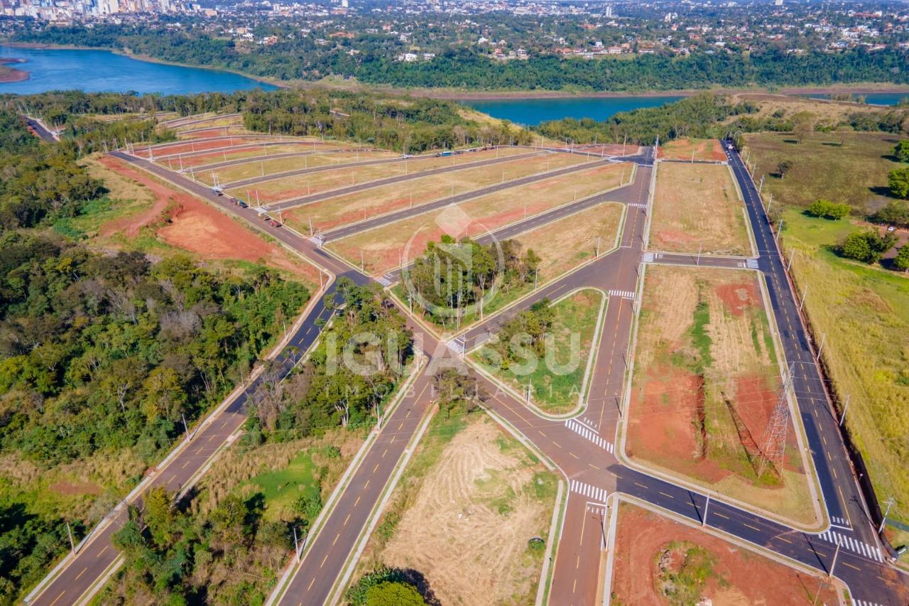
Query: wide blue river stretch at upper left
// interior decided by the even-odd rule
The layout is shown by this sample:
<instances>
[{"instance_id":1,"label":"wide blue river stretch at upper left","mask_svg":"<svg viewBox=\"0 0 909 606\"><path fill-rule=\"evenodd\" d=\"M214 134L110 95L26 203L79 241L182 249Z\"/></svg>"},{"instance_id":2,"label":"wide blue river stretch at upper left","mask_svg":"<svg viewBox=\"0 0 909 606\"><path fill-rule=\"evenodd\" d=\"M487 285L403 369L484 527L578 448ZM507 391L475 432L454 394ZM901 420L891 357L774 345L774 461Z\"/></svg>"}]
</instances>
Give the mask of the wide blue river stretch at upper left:
<instances>
[{"instance_id":1,"label":"wide blue river stretch at upper left","mask_svg":"<svg viewBox=\"0 0 909 606\"><path fill-rule=\"evenodd\" d=\"M137 93L185 95L212 91L230 93L256 87L265 90L276 88L230 72L165 66L109 51L0 46L0 57L25 59L25 63L9 66L31 75L22 82L0 83L0 94L28 95L48 90L79 89L91 93L133 90Z\"/></svg>"}]
</instances>

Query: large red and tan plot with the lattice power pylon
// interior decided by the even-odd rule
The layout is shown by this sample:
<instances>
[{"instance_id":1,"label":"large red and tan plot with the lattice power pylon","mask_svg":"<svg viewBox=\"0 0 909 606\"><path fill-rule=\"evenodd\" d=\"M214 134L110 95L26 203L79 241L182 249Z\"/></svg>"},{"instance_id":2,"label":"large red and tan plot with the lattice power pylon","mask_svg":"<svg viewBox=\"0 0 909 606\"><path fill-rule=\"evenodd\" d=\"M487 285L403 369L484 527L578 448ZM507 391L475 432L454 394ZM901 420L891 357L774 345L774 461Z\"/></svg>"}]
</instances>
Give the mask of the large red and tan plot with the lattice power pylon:
<instances>
[{"instance_id":1,"label":"large red and tan plot with the lattice power pylon","mask_svg":"<svg viewBox=\"0 0 909 606\"><path fill-rule=\"evenodd\" d=\"M768 466L757 477L780 399L780 372L758 274L648 267L626 453L763 510L814 524L791 420L783 469Z\"/></svg>"}]
</instances>

